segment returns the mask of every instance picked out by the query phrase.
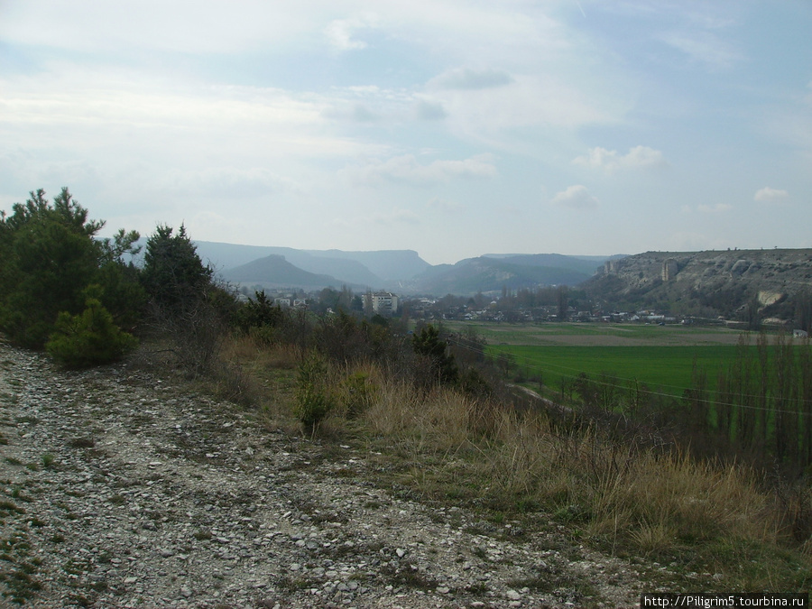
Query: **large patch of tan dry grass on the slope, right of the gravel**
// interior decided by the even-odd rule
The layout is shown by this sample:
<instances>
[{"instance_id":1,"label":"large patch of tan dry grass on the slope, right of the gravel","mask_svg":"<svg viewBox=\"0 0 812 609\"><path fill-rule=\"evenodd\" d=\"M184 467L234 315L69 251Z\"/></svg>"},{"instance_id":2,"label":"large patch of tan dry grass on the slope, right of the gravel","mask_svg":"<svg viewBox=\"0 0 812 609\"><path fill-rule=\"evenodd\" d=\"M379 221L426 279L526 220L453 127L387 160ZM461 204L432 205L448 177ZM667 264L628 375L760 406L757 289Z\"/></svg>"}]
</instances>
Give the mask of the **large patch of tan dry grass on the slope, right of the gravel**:
<instances>
[{"instance_id":1,"label":"large patch of tan dry grass on the slope, right of the gravel","mask_svg":"<svg viewBox=\"0 0 812 609\"><path fill-rule=\"evenodd\" d=\"M478 410L481 403L455 391L421 395L383 382L364 422L409 447L408 460L420 465L401 480L436 498L478 496L514 513L538 505L601 549L725 573L727 586L808 584L808 564L782 548L786 511L746 467L635 449L594 431L561 436L542 415L497 407L483 434ZM755 548L752 567L734 553L742 545Z\"/></svg>"}]
</instances>

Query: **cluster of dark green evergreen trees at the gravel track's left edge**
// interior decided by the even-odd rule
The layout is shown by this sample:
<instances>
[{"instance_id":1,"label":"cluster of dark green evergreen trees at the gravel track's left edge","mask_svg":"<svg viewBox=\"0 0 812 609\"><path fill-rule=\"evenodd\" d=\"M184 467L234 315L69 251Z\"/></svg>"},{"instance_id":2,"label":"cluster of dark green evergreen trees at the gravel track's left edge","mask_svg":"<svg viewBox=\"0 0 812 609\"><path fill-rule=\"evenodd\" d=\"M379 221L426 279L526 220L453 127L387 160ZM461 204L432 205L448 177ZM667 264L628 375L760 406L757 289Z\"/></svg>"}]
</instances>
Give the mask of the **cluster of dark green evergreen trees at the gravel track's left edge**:
<instances>
[{"instance_id":1,"label":"cluster of dark green evergreen trees at the gravel track's left edge","mask_svg":"<svg viewBox=\"0 0 812 609\"><path fill-rule=\"evenodd\" d=\"M100 239L104 226L67 188L51 203L32 191L0 213L0 330L14 344L44 348L70 367L104 364L132 351L148 328L203 328L188 323L203 303L233 301L182 226L158 226L140 267L132 262L140 235L121 229Z\"/></svg>"}]
</instances>

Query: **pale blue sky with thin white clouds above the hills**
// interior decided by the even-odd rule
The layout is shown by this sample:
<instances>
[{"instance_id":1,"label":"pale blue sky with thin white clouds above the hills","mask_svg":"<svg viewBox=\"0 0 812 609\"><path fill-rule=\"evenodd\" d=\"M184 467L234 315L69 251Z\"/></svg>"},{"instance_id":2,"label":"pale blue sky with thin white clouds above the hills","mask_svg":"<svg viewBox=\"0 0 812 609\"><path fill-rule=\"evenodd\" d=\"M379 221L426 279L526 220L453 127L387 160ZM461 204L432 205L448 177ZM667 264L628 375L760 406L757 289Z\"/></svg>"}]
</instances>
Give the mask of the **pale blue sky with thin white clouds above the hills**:
<instances>
[{"instance_id":1,"label":"pale blue sky with thin white clouds above the hills","mask_svg":"<svg viewBox=\"0 0 812 609\"><path fill-rule=\"evenodd\" d=\"M0 0L0 209L300 249L812 247L809 0Z\"/></svg>"}]
</instances>

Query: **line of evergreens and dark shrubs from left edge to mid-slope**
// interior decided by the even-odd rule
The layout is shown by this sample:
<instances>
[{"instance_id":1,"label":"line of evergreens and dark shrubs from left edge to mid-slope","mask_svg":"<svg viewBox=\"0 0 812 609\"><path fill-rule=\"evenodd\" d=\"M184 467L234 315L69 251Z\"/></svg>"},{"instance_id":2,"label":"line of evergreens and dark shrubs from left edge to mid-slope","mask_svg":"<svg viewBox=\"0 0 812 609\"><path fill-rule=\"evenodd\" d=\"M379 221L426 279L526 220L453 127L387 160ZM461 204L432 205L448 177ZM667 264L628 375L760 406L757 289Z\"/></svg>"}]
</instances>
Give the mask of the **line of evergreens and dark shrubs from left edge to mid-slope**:
<instances>
[{"instance_id":1,"label":"line of evergreens and dark shrubs from left edge to mid-slope","mask_svg":"<svg viewBox=\"0 0 812 609\"><path fill-rule=\"evenodd\" d=\"M221 356L231 337L290 346L301 360L317 353L344 366L372 362L423 388L481 395L499 385L481 341L455 355L439 328L411 334L405 319L364 318L348 289L323 294L333 315L281 309L264 292L246 300L217 281L184 226L157 226L139 265L140 235L122 229L100 239L103 226L67 188L52 202L36 190L0 214L0 331L10 341L82 367L120 359L150 338L156 354L189 374L230 376L235 394L240 374Z\"/></svg>"}]
</instances>

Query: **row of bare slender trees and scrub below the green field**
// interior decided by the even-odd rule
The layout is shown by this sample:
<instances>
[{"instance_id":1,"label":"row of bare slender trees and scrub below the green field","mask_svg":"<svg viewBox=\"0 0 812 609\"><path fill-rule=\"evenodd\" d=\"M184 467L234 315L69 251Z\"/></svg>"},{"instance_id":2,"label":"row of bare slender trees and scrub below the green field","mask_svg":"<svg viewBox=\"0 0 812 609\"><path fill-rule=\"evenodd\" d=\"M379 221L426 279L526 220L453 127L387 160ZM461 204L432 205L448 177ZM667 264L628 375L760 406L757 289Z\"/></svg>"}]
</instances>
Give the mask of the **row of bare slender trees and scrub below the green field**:
<instances>
[{"instance_id":1,"label":"row of bare slender trees and scrub below the green field","mask_svg":"<svg viewBox=\"0 0 812 609\"><path fill-rule=\"evenodd\" d=\"M558 401L626 438L697 457L746 461L794 477L812 466L812 346L743 334L715 378L695 362L680 397L614 374L563 377ZM515 363L503 364L506 370Z\"/></svg>"}]
</instances>

